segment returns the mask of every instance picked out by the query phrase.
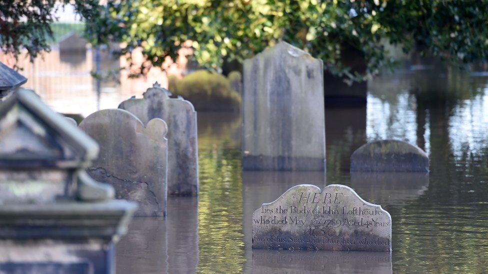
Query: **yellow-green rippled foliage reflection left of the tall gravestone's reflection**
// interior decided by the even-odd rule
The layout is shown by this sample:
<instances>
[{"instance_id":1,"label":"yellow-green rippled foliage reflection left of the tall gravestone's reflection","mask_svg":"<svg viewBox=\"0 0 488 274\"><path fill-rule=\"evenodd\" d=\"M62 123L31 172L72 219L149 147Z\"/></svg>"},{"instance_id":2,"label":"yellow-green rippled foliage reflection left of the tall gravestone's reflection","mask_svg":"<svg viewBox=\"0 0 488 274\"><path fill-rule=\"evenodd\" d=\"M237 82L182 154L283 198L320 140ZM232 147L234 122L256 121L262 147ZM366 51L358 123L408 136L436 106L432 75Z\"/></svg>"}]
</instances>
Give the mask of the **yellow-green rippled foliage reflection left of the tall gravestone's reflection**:
<instances>
[{"instance_id":1,"label":"yellow-green rippled foliage reflection left of the tall gravestone's reflection","mask_svg":"<svg viewBox=\"0 0 488 274\"><path fill-rule=\"evenodd\" d=\"M198 150L198 273L240 273L245 261L240 150L223 147Z\"/></svg>"}]
</instances>

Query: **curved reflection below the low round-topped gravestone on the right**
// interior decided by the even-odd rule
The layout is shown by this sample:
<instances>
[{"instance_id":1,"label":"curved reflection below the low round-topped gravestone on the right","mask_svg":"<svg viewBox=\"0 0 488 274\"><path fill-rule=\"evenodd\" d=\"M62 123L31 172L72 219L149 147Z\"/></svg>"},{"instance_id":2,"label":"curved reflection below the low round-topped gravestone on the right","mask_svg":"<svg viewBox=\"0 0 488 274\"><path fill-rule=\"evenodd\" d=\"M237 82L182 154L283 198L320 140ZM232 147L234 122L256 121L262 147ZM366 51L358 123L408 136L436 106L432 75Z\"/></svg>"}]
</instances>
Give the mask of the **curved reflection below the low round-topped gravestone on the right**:
<instances>
[{"instance_id":1,"label":"curved reflection below the low round-topped gravestone on the right","mask_svg":"<svg viewBox=\"0 0 488 274\"><path fill-rule=\"evenodd\" d=\"M420 197L428 181L428 173L421 172L353 172L350 186L367 201L397 205Z\"/></svg>"}]
</instances>

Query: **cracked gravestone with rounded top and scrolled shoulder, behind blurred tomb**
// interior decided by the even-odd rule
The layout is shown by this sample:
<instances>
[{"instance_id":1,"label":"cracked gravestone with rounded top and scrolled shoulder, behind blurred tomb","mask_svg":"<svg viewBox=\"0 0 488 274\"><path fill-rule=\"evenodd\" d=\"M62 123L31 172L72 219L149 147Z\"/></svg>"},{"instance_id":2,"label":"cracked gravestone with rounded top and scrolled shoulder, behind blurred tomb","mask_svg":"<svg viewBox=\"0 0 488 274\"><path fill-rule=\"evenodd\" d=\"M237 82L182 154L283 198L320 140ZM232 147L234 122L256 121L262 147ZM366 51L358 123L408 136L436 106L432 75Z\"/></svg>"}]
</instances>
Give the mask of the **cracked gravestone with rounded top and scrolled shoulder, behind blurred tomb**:
<instances>
[{"instance_id":1,"label":"cracked gravestone with rounded top and scrolled shoulder, behind blurred tomb","mask_svg":"<svg viewBox=\"0 0 488 274\"><path fill-rule=\"evenodd\" d=\"M135 216L166 214L166 124L150 120L144 128L132 113L104 109L84 118L78 126L100 146L88 174L115 188L117 199L139 203Z\"/></svg>"}]
</instances>

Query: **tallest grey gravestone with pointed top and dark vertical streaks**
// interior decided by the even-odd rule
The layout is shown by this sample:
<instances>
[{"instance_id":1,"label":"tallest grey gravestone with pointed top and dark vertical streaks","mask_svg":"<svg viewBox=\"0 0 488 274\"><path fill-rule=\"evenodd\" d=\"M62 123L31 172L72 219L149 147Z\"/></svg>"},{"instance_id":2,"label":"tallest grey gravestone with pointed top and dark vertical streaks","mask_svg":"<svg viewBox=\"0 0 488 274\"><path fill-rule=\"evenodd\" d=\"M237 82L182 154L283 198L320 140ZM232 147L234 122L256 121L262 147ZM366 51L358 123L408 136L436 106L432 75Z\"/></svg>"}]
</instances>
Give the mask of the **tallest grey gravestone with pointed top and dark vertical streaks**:
<instances>
[{"instance_id":1,"label":"tallest grey gravestone with pointed top and dark vertical streaks","mask_svg":"<svg viewBox=\"0 0 488 274\"><path fill-rule=\"evenodd\" d=\"M322 61L279 42L243 66L242 168L325 170Z\"/></svg>"}]
</instances>

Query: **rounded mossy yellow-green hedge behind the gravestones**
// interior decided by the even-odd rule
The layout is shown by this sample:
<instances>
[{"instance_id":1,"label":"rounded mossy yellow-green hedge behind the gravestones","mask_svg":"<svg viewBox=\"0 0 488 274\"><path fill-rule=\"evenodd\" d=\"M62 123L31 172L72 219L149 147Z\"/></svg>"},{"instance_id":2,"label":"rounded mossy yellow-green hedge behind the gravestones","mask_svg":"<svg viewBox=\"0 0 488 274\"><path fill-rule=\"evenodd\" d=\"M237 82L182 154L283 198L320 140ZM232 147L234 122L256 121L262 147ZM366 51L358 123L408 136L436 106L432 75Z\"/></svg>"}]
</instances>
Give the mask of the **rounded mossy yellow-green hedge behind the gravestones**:
<instances>
[{"instance_id":1,"label":"rounded mossy yellow-green hedge behind the gravestones","mask_svg":"<svg viewBox=\"0 0 488 274\"><path fill-rule=\"evenodd\" d=\"M223 75L206 70L194 71L181 79L170 75L169 91L190 101L197 111L238 111L240 94Z\"/></svg>"}]
</instances>

